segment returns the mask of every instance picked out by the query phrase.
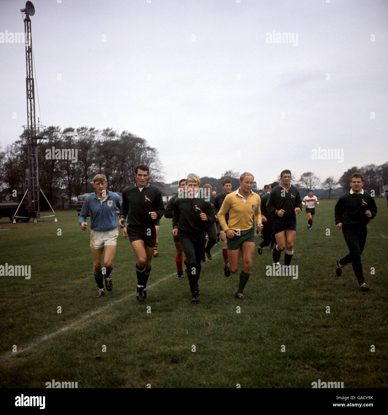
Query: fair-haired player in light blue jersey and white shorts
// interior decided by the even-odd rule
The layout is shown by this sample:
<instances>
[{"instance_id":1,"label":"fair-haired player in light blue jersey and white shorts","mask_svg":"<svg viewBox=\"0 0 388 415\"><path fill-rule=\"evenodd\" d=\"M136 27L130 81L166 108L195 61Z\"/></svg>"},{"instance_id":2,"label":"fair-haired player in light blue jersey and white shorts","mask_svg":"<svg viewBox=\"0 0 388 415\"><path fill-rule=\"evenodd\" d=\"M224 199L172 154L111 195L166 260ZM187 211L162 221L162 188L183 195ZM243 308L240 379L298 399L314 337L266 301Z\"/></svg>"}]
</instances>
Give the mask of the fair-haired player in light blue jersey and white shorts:
<instances>
[{"instance_id":1,"label":"fair-haired player in light blue jersey and white shorts","mask_svg":"<svg viewBox=\"0 0 388 415\"><path fill-rule=\"evenodd\" d=\"M113 260L115 259L117 236L119 234L116 207L120 208L121 202L117 193L110 192L107 189L107 180L104 175L96 174L94 176L93 187L95 192L85 198L78 222L81 229L86 230L88 227L86 218L90 213L90 248L92 248L93 276L98 286L97 297L100 298L105 294L101 269L102 253L104 251L105 287L107 291L112 291L113 287L110 273L115 267ZM122 236L127 237L125 227L122 228Z\"/></svg>"}]
</instances>

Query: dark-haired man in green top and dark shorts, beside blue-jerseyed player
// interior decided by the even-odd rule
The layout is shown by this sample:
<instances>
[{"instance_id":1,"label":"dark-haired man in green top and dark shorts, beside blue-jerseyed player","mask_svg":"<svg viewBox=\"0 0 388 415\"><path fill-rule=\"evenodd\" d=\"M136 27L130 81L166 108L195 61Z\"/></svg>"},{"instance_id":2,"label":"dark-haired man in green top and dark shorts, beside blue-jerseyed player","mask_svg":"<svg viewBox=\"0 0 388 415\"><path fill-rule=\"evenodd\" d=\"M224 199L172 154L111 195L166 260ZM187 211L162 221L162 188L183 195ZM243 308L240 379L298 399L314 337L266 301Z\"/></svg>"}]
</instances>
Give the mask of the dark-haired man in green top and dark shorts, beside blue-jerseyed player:
<instances>
[{"instance_id":1,"label":"dark-haired man in green top and dark shorts, beside blue-jerseyed player","mask_svg":"<svg viewBox=\"0 0 388 415\"><path fill-rule=\"evenodd\" d=\"M137 290L139 301L147 300L146 284L151 272L151 258L156 243L155 222L163 216L164 205L158 187L147 183L149 168L144 164L135 168L136 183L122 192L119 227L127 218L129 242L137 258Z\"/></svg>"}]
</instances>

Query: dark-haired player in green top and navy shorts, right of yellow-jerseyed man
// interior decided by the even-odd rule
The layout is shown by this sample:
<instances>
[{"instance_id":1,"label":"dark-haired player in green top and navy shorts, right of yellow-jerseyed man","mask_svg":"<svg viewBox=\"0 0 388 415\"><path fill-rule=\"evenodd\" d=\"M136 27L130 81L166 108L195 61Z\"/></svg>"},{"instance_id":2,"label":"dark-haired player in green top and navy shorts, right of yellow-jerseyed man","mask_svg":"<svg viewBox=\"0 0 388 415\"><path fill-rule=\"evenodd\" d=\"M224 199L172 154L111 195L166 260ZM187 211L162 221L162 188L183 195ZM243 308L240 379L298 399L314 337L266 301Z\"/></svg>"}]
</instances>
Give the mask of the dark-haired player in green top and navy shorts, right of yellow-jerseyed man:
<instances>
[{"instance_id":1,"label":"dark-haired player in green top and navy shorts, right of yellow-jerseyed man","mask_svg":"<svg viewBox=\"0 0 388 415\"><path fill-rule=\"evenodd\" d=\"M275 186L267 200L267 210L273 215L273 233L276 245L272 251L272 258L279 264L281 252L284 254L284 265L289 266L293 253L296 236L296 215L302 211L302 200L299 190L291 182L290 170L283 170L280 174L281 183Z\"/></svg>"}]
</instances>

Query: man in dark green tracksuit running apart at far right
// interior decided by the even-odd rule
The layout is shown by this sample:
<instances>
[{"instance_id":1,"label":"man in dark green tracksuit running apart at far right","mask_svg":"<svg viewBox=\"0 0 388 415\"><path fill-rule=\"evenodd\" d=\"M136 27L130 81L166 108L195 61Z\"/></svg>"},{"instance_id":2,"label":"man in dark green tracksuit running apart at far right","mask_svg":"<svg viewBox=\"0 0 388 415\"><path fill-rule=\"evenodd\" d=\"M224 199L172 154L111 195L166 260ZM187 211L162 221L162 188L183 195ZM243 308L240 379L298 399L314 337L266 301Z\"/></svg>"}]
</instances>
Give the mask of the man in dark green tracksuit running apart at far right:
<instances>
[{"instance_id":1,"label":"man in dark green tracksuit running apart at far right","mask_svg":"<svg viewBox=\"0 0 388 415\"><path fill-rule=\"evenodd\" d=\"M342 229L349 254L337 259L336 274L340 276L342 268L351 262L353 271L362 291L369 291L364 281L361 254L366 242L366 224L377 215L374 198L362 187L364 176L353 173L349 183L351 190L341 195L334 208L334 218L337 229Z\"/></svg>"}]
</instances>

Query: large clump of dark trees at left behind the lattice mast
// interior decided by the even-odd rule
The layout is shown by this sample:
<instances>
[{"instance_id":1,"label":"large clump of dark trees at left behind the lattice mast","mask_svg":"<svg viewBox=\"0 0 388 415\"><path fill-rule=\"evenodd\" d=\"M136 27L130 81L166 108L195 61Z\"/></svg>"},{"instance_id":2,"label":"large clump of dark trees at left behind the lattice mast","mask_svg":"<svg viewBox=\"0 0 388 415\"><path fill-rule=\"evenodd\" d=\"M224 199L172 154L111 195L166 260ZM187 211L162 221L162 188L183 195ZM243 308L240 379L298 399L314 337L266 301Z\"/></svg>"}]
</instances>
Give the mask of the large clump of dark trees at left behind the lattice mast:
<instances>
[{"instance_id":1,"label":"large clump of dark trees at left behind the lattice mast","mask_svg":"<svg viewBox=\"0 0 388 415\"><path fill-rule=\"evenodd\" d=\"M133 182L134 168L138 164L149 166L150 181L163 180L158 150L128 131L120 134L111 128L62 130L51 126L40 135L45 139L38 144L39 186L50 202L54 196L62 195L70 203L79 194L91 193L94 191L92 179L98 173L106 176L109 190L120 191ZM61 152L63 149L74 151ZM70 158L75 154L76 162L75 157ZM66 158L62 158L63 155ZM2 188L22 190L27 167L27 142L22 134L0 153Z\"/></svg>"}]
</instances>

